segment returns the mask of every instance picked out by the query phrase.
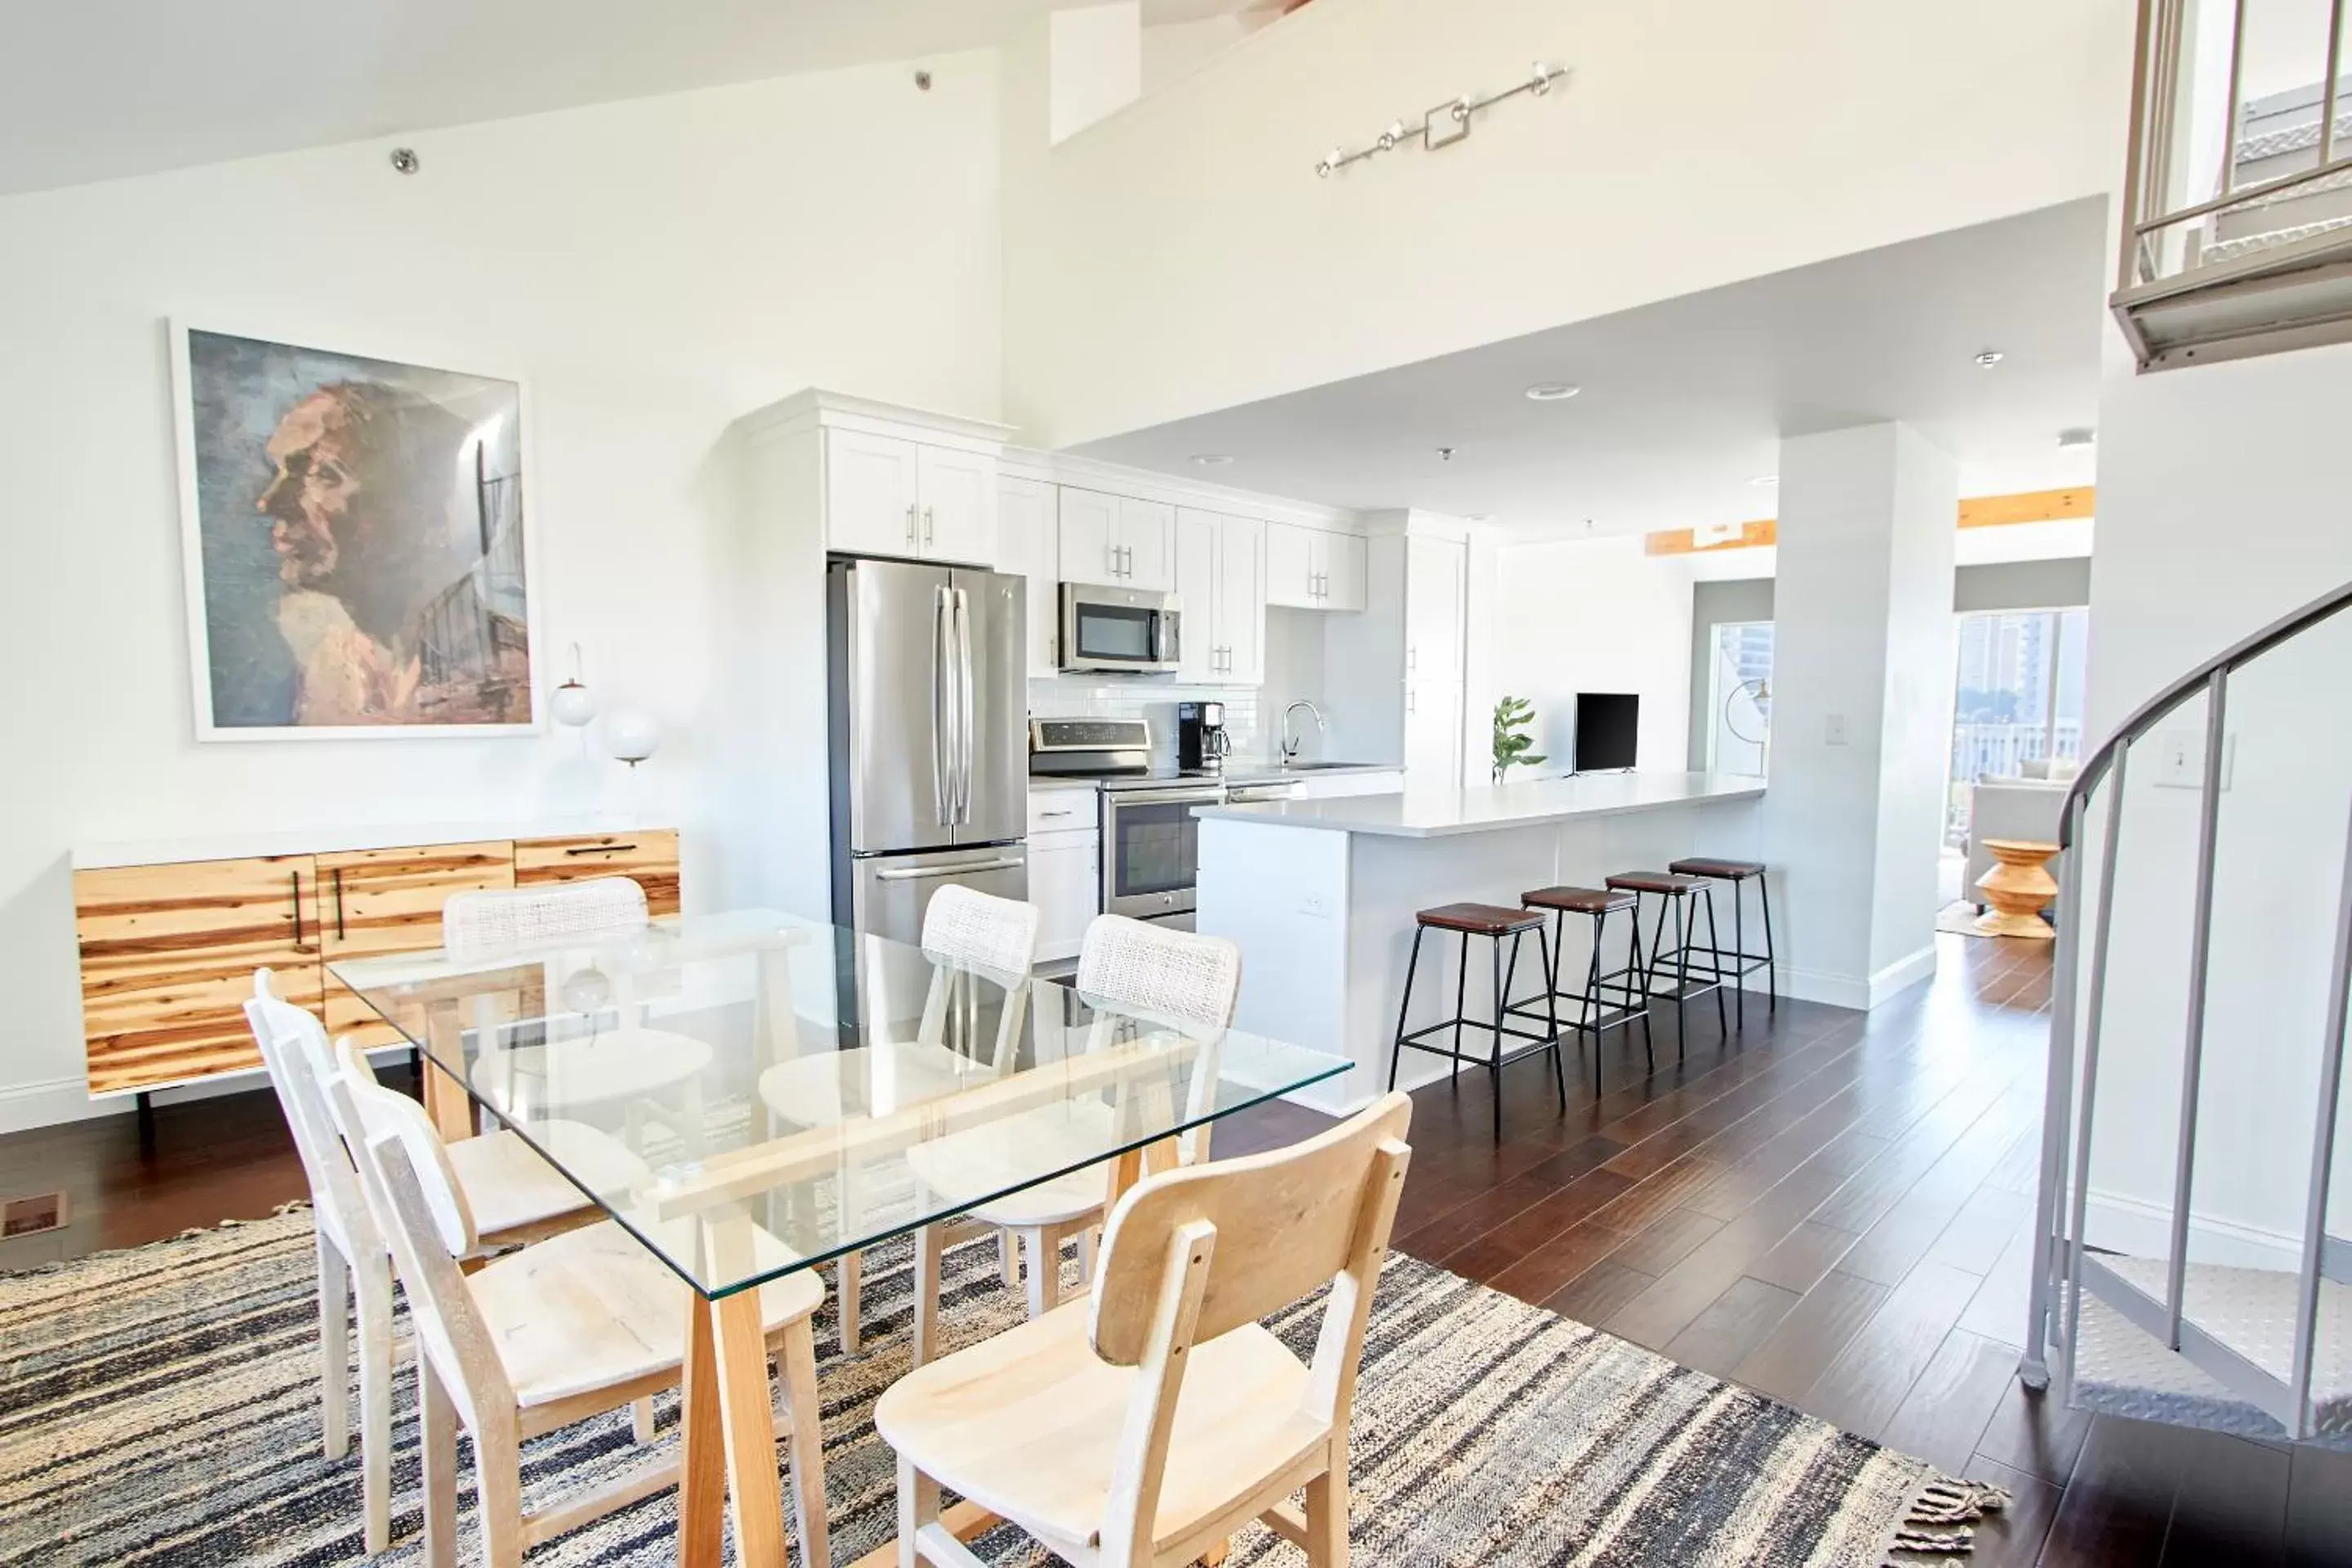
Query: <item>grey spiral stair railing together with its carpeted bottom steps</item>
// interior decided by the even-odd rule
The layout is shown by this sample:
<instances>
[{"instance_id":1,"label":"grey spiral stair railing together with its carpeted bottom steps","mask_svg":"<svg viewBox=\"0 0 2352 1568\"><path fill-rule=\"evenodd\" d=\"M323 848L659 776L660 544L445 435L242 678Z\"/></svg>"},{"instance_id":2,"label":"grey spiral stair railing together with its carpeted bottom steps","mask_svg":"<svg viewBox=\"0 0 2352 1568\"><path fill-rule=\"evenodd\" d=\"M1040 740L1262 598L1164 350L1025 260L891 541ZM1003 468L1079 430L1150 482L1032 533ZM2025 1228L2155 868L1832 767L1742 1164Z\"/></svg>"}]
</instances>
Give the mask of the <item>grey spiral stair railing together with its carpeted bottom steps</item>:
<instances>
[{"instance_id":1,"label":"grey spiral stair railing together with its carpeted bottom steps","mask_svg":"<svg viewBox=\"0 0 2352 1568\"><path fill-rule=\"evenodd\" d=\"M2347 607L2352 607L2352 583L2197 665L2124 719L2122 729L2091 752L2067 792L2060 844L2067 851L2093 849L2086 837L2093 802L2100 806L2103 832L2096 853L2067 853L2063 863L2032 1307L2020 1378L2027 1387L2049 1387L2056 1368L2065 1399L2074 1406L2260 1439L2352 1446L2352 1293L2345 1291L2352 1281L2352 1241L2328 1234L2345 1016L2352 1001L2352 820L2336 884L2333 964L2326 980L2317 1081L2274 1084L2281 1107L2300 1105L2305 1091L2317 1093L2303 1192L2305 1227L2298 1237L2300 1267L2296 1272L2223 1267L2190 1258L2197 1135L2206 1088L2204 1046L2213 884L2223 849L2230 682L2256 658ZM2206 698L2206 712L2197 849L2190 872L2194 903L2187 1020L2180 1112L2171 1128L2173 1192L2164 1213L2171 1237L2164 1258L2133 1258L2093 1251L2086 1244L2093 1105L2114 980L2110 933L2124 842L2124 783L2133 748L2199 696ZM2089 898L2086 882L2096 886ZM2150 1041L2131 1044L2145 1060ZM2140 1138L2152 1128L2129 1131Z\"/></svg>"}]
</instances>

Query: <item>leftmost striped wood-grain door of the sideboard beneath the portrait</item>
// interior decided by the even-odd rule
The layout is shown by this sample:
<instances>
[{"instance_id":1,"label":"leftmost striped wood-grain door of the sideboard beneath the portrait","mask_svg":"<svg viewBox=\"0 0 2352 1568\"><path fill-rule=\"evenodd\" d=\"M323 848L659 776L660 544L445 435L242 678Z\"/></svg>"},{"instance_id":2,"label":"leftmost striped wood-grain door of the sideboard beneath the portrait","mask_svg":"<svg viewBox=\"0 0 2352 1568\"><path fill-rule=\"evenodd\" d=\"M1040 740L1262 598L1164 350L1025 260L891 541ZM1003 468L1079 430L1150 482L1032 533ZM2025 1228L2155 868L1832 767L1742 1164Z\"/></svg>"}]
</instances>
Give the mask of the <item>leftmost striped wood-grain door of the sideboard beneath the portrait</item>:
<instances>
[{"instance_id":1,"label":"leftmost striped wood-grain door of the sideboard beneath the portrait","mask_svg":"<svg viewBox=\"0 0 2352 1568\"><path fill-rule=\"evenodd\" d=\"M78 870L89 1093L259 1067L245 1023L254 971L320 1006L318 903L310 856Z\"/></svg>"}]
</instances>

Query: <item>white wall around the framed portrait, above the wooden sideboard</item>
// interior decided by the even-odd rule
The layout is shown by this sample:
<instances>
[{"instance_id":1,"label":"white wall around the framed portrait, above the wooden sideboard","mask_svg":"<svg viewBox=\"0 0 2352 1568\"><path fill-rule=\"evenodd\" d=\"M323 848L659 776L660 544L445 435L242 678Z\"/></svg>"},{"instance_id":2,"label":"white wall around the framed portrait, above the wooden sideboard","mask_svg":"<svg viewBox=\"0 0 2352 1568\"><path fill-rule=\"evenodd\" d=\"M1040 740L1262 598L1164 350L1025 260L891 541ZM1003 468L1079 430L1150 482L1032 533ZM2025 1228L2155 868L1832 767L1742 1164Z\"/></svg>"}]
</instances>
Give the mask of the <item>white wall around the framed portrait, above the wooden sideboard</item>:
<instances>
[{"instance_id":1,"label":"white wall around the framed portrait, above the wooden sideboard","mask_svg":"<svg viewBox=\"0 0 2352 1568\"><path fill-rule=\"evenodd\" d=\"M407 179L386 141L0 200L0 1128L85 1105L78 844L640 804L699 898L743 719L713 708L720 430L809 383L997 411L997 71L931 71L405 136ZM195 745L167 315L529 376L541 672L576 639L659 715L640 799L569 733Z\"/></svg>"}]
</instances>

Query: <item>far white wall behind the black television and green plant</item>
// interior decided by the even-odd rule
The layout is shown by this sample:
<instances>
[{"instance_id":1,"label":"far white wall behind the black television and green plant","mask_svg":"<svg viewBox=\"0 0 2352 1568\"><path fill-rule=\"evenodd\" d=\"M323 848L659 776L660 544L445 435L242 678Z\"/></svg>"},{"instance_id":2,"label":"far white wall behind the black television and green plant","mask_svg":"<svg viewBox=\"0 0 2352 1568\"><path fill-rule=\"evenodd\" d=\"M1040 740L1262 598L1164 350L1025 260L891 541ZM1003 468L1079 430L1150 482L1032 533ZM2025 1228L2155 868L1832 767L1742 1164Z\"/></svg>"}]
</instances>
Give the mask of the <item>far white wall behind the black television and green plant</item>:
<instances>
[{"instance_id":1,"label":"far white wall behind the black television and green plant","mask_svg":"<svg viewBox=\"0 0 2352 1568\"><path fill-rule=\"evenodd\" d=\"M1501 696L1536 705L1531 773L1564 773L1576 752L1576 693L1642 698L1639 766L1682 769L1691 722L1691 571L1679 555L1642 555L1637 536L1496 550L1486 686L1470 710L1491 719ZM1484 736L1491 724L1475 726Z\"/></svg>"}]
</instances>

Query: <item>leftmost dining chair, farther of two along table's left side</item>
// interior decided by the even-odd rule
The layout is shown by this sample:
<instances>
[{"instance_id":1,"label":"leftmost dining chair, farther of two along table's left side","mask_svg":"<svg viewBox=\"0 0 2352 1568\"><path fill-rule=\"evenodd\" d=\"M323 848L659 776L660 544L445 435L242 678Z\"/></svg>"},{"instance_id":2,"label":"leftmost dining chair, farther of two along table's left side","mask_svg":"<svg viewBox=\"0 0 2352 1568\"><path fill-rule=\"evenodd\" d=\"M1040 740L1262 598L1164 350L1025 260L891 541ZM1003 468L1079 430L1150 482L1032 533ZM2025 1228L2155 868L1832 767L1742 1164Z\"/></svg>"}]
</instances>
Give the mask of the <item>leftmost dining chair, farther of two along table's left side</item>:
<instances>
[{"instance_id":1,"label":"leftmost dining chair, farther of two along table's left side","mask_svg":"<svg viewBox=\"0 0 2352 1568\"><path fill-rule=\"evenodd\" d=\"M360 1509L367 1549L383 1552L393 1528L390 1244L360 1187L353 1157L360 1138L341 1126L329 1095L336 1065L327 1051L327 1030L306 1009L278 997L268 969L254 971L245 1020L261 1046L261 1065L310 1185L310 1220L318 1229L320 1418L329 1460L350 1453L350 1326L358 1319ZM367 1072L367 1058L355 1053L355 1060ZM644 1161L595 1128L564 1126L560 1138L567 1157L581 1159L583 1168L616 1192L644 1178ZM522 1246L597 1218L588 1197L515 1133L468 1138L454 1145L449 1166L477 1220L477 1251ZM647 1422L649 1418L647 1408Z\"/></svg>"}]
</instances>

